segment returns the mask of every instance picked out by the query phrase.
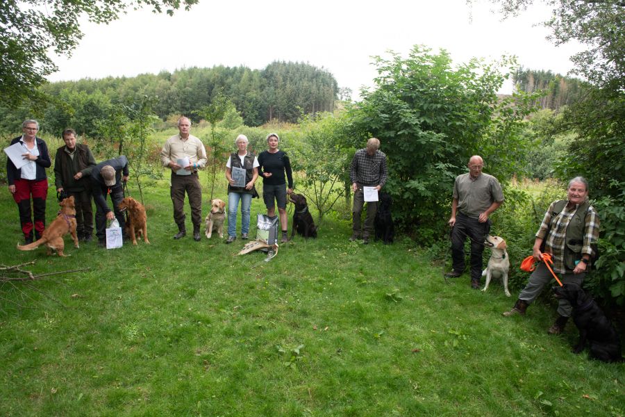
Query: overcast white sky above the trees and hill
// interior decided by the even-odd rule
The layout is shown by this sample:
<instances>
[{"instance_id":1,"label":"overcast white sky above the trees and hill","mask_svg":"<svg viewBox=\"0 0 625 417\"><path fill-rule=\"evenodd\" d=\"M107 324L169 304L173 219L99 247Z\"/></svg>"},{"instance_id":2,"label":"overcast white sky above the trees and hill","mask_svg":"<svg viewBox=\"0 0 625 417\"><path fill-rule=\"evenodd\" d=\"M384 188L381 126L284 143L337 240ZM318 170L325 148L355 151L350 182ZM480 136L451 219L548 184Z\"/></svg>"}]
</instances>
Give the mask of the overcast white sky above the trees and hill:
<instances>
[{"instance_id":1,"label":"overcast white sky above the trees and hill","mask_svg":"<svg viewBox=\"0 0 625 417\"><path fill-rule=\"evenodd\" d=\"M371 56L406 56L415 44L449 51L455 63L515 55L519 64L566 74L577 45L554 47L534 26L550 10L533 7L501 22L486 0L200 0L174 17L131 11L107 25L82 23L72 58L55 58L51 81L135 76L183 67L301 61L330 71L354 98L376 76ZM511 86L506 88L509 92Z\"/></svg>"}]
</instances>

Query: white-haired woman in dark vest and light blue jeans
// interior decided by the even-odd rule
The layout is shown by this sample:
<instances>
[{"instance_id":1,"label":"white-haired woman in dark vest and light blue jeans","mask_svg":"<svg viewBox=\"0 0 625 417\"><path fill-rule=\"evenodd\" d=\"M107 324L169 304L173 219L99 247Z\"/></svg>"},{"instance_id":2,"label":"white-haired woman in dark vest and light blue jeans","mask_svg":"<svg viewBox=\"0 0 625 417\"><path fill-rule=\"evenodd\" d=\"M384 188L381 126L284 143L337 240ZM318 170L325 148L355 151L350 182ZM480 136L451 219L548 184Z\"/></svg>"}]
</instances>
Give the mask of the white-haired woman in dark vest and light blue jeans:
<instances>
[{"instance_id":1,"label":"white-haired woman in dark vest and light blue jeans","mask_svg":"<svg viewBox=\"0 0 625 417\"><path fill-rule=\"evenodd\" d=\"M254 183L258 178L258 158L253 153L247 152L248 143L247 136L237 136L235 144L238 152L233 152L226 163L226 179L228 180L228 239L226 243L233 243L237 238L239 200L241 200L241 238L247 239L251 199L258 197L256 188L254 188ZM243 186L238 185L236 174L235 179L233 179L233 168L245 170Z\"/></svg>"}]
</instances>

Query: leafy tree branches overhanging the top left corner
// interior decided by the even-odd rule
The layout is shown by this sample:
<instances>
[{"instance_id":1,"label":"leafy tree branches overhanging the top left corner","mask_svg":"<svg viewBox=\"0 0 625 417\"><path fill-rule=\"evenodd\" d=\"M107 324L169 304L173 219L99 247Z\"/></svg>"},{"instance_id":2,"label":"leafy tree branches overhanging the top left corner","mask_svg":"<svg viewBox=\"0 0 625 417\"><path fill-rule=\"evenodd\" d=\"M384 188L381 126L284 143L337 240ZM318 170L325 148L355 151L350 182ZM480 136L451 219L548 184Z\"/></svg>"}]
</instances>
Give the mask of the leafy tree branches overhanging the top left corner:
<instances>
[{"instance_id":1,"label":"leafy tree branches overhanging the top left corner","mask_svg":"<svg viewBox=\"0 0 625 417\"><path fill-rule=\"evenodd\" d=\"M128 9L173 15L198 0L3 0L0 2L0 95L17 104L58 69L48 53L71 56L83 38L78 22L108 24Z\"/></svg>"}]
</instances>

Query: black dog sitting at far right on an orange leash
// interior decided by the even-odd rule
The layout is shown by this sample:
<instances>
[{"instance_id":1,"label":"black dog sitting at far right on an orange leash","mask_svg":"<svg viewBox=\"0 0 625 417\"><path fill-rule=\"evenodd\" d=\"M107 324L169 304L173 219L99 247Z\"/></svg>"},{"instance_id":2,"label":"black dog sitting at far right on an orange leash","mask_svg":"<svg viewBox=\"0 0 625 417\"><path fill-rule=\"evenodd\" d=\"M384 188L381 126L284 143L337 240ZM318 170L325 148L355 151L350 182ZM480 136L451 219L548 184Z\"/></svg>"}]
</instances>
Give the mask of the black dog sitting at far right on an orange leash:
<instances>
[{"instance_id":1,"label":"black dog sitting at far right on an orange leash","mask_svg":"<svg viewBox=\"0 0 625 417\"><path fill-rule=\"evenodd\" d=\"M579 331L579 341L573 352L590 345L590 357L604 362L622 362L621 341L614 326L601 311L597 302L578 284L566 283L553 288L556 298L569 300L573 306L573 321Z\"/></svg>"}]
</instances>

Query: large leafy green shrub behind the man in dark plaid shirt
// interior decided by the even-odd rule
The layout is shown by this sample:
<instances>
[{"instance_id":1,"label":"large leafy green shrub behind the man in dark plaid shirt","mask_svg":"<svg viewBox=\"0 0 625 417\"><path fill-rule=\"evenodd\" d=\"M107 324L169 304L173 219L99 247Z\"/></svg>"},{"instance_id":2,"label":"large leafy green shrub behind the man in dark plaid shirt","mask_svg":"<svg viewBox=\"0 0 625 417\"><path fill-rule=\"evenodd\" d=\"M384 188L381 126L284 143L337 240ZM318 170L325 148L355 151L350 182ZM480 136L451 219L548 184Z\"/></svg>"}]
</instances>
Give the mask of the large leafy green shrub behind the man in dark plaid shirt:
<instances>
[{"instance_id":1,"label":"large leafy green shrub behind the man in dark plaid shirt","mask_svg":"<svg viewBox=\"0 0 625 417\"><path fill-rule=\"evenodd\" d=\"M376 88L363 91L351 111L354 145L362 147L363 133L381 140L397 225L428 244L449 218L453 181L470 156L482 155L485 172L502 182L521 170L520 122L533 101L501 99L506 76L496 67L480 60L453 66L446 51L415 47L408 58L392 54L375 64Z\"/></svg>"}]
</instances>

